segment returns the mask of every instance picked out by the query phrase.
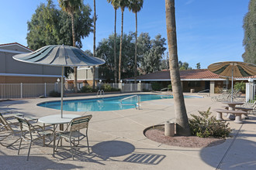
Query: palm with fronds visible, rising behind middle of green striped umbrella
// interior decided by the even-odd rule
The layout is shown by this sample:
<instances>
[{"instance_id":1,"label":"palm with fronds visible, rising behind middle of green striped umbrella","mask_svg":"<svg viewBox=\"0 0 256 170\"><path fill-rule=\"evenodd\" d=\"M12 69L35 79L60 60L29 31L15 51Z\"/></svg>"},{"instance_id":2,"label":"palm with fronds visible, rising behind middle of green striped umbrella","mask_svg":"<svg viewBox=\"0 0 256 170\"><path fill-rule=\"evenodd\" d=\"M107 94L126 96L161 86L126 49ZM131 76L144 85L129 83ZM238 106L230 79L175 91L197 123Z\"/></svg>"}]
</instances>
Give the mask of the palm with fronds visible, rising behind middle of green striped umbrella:
<instances>
[{"instance_id":1,"label":"palm with fronds visible, rising behind middle of green striped umbrella","mask_svg":"<svg viewBox=\"0 0 256 170\"><path fill-rule=\"evenodd\" d=\"M73 46L75 46L74 12L80 10L82 0L58 0L62 10L71 15ZM78 67L74 66L74 91L78 91Z\"/></svg>"}]
</instances>

